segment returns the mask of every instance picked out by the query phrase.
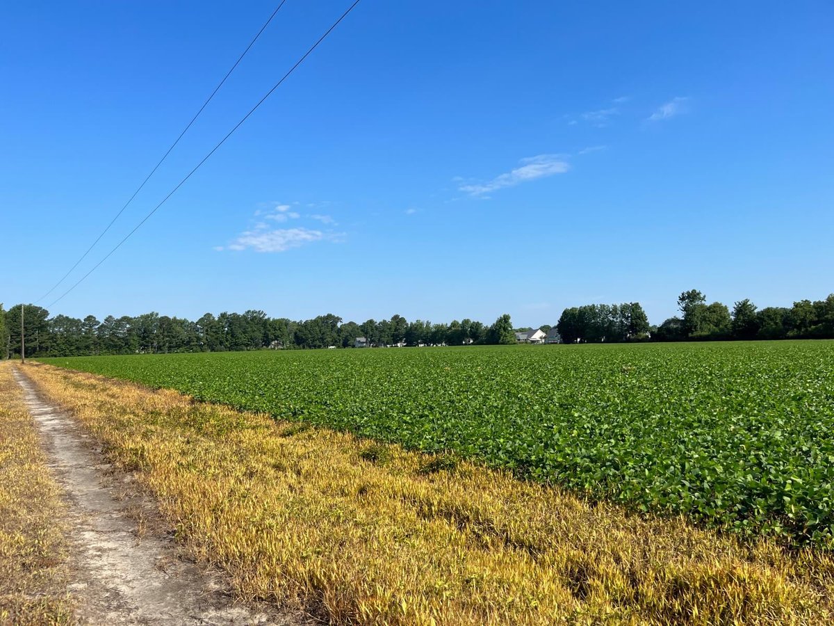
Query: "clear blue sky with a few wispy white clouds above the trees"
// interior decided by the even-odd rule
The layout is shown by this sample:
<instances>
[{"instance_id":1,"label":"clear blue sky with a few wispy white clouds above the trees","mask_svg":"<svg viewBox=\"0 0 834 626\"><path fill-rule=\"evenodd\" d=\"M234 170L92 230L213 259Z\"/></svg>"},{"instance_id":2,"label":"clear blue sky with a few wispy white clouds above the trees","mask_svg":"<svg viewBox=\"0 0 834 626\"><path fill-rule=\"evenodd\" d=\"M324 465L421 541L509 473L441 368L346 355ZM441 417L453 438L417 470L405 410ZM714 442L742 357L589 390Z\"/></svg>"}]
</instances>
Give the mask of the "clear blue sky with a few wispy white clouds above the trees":
<instances>
[{"instance_id":1,"label":"clear blue sky with a few wispy white clouds above the trees","mask_svg":"<svg viewBox=\"0 0 834 626\"><path fill-rule=\"evenodd\" d=\"M276 4L3 8L0 301L68 270ZM348 6L288 0L66 285ZM832 38L829 2L363 0L51 311L527 326L624 300L660 323L691 288L822 298Z\"/></svg>"}]
</instances>

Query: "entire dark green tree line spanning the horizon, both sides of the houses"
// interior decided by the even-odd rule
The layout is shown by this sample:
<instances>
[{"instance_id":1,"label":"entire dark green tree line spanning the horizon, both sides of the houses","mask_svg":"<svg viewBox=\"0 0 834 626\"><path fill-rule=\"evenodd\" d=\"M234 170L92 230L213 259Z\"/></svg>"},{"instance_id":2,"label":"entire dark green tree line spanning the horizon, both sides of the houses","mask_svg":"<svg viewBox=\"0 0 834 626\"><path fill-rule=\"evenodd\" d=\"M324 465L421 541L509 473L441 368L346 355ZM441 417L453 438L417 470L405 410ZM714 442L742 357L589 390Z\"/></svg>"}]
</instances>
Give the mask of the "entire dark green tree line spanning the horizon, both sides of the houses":
<instances>
[{"instance_id":1,"label":"entire dark green tree line spanning the horizon, both sides of the houses","mask_svg":"<svg viewBox=\"0 0 834 626\"><path fill-rule=\"evenodd\" d=\"M555 328L565 343L834 338L834 294L763 309L745 299L730 310L721 302L707 304L699 290L688 290L677 305L680 315L660 326L649 324L639 302L575 306L562 312ZM529 330L514 329L509 315L487 326L470 319L450 324L407 321L399 315L361 324L333 314L292 321L269 317L262 310L206 313L197 321L155 312L98 321L95 316L50 317L48 310L35 305L23 310L31 356L352 347L357 337L364 337L369 346L510 344L515 343L515 330ZM0 304L0 355L19 355L20 315L20 305L4 310ZM550 330L547 325L541 328Z\"/></svg>"}]
</instances>

